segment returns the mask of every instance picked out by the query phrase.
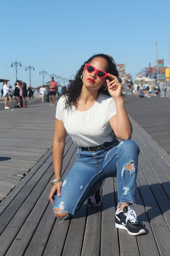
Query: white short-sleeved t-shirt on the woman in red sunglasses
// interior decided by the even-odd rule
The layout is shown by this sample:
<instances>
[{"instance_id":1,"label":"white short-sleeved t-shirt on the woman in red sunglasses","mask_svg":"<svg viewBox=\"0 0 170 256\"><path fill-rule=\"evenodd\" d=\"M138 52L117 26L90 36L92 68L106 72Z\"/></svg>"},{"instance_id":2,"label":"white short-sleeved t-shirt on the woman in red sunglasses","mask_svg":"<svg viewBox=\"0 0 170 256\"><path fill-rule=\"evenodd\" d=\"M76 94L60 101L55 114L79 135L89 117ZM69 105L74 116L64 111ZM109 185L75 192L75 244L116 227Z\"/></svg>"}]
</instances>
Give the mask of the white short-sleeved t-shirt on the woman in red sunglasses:
<instances>
[{"instance_id":1,"label":"white short-sleeved t-shirt on the woman in red sunglasses","mask_svg":"<svg viewBox=\"0 0 170 256\"><path fill-rule=\"evenodd\" d=\"M86 111L78 111L74 106L72 109L65 109L65 97L60 97L55 117L63 121L74 144L88 147L112 141L109 119L114 115L116 115L114 99L101 93L96 103Z\"/></svg>"}]
</instances>

